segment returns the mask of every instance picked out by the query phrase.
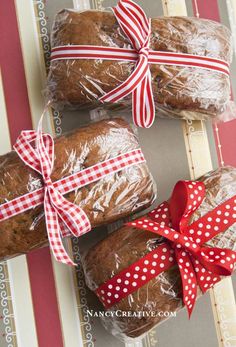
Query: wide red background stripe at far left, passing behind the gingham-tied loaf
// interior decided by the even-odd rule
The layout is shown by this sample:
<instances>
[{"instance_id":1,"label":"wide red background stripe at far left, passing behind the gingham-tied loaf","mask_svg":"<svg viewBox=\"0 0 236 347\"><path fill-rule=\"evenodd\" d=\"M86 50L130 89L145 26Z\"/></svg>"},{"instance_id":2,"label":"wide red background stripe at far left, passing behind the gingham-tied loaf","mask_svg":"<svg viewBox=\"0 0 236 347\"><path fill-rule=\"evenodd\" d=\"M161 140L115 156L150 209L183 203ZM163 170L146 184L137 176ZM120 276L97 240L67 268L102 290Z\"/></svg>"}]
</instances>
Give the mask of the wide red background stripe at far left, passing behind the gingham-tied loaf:
<instances>
[{"instance_id":1,"label":"wide red background stripe at far left, passing behind the gingham-tied loaf","mask_svg":"<svg viewBox=\"0 0 236 347\"><path fill-rule=\"evenodd\" d=\"M32 128L14 0L0 1L0 40L1 71L10 137L13 144L22 129ZM30 253L27 256L27 262L39 346L63 347L49 249L44 248Z\"/></svg>"}]
</instances>

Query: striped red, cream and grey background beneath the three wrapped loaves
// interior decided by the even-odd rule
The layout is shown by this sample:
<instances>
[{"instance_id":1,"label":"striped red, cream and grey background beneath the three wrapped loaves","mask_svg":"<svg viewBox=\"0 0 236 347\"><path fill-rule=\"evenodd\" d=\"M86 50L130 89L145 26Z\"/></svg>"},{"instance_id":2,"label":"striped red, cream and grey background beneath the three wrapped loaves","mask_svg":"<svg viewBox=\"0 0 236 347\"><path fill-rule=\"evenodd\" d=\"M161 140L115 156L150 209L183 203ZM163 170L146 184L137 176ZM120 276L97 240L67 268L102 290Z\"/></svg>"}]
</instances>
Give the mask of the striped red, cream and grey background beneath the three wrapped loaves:
<instances>
[{"instance_id":1,"label":"striped red, cream and grey background beneath the three wrapped loaves","mask_svg":"<svg viewBox=\"0 0 236 347\"><path fill-rule=\"evenodd\" d=\"M200 17L222 21L228 26L231 25L232 29L236 28L236 0L219 0L218 2L217 0L156 0L155 2L143 0L137 2L143 6L148 15L154 16L154 13L161 15L163 11L166 14L170 12L183 14L183 11L187 9L188 15L199 13ZM43 110L44 100L41 91L45 86L50 52L48 28L51 26L55 13L62 7L74 6L84 9L92 6L102 9L113 4L115 1L110 0L92 0L91 3L87 0L3 0L0 2L2 45L0 50L0 154L11 149L22 129L35 128ZM234 38L236 47L236 31ZM233 72L236 73L235 66L233 66ZM236 93L236 85L234 81L232 82L232 93ZM51 121L46 125L47 130L60 134L79 125L80 120L75 120L71 114L63 113L63 116L61 119L58 113L50 113L48 119ZM89 118L86 114L82 116ZM97 117L94 113L92 116ZM147 160L150 162L150 168L158 181L162 183L159 186L160 201L166 198L166 194L180 178L194 178L211 169L212 166L217 166L218 163L236 166L236 156L233 151L236 147L236 120L213 125L213 127L211 125L205 127L201 122L172 121L172 126L169 125L169 121L156 121L153 128L148 130L150 134L148 138L145 130L140 131L141 142ZM163 134L166 134L165 138L169 138L169 142L175 142L167 142ZM150 138L153 140L151 141ZM171 147L178 149L181 163L176 162L176 153L170 151ZM157 153L156 148L162 149L160 153ZM163 159L164 155L165 159ZM155 162L152 160L154 156ZM173 163L169 171L165 165L159 167L158 163L161 161L165 164L165 160L167 163L169 161ZM174 175L173 172L175 172ZM92 233L91 238L68 242L70 251L79 263L77 269L57 264L47 247L0 264L1 347L124 346L124 343L105 332L98 319L89 317L87 313L91 302L93 305L98 304L95 297L85 288L79 248L86 249L92 238L101 238L106 230L92 231ZM188 322L183 313L180 313L179 323L170 320L158 329L154 329L144 339L135 343L127 342L126 345L149 347L158 344L160 347L169 347L173 346L174 341L175 347L189 346L189 336L192 335L198 346L201 345L201 337L198 336L195 327L199 324L203 335L205 325L211 331L207 346L215 347L217 338L214 323L211 313L210 315L207 313L211 311L209 297L204 298L202 302L203 304L198 303L199 311L192 317L191 322ZM224 307L223 304L222 307ZM205 321L202 321L203 315L206 315ZM221 320L220 317L218 319ZM178 341L176 339L172 341L170 334L166 339L168 327L172 327L173 336L175 336L185 324L189 324L185 336ZM219 334L218 332L218 341L221 346L226 346L226 342L227 346L236 346L235 340L231 342L230 337ZM227 324L225 336L227 336ZM220 341L221 339L223 341Z\"/></svg>"}]
</instances>

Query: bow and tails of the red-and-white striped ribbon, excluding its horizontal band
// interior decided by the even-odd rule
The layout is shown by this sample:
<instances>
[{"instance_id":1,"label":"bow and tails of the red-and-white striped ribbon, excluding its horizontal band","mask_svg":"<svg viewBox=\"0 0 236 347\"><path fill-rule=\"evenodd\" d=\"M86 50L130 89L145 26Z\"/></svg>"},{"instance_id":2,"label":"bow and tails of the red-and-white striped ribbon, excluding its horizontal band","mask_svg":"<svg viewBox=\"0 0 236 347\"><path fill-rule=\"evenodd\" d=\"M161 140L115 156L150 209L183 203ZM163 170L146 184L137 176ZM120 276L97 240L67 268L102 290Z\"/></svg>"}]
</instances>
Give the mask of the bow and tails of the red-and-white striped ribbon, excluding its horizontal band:
<instances>
[{"instance_id":1,"label":"bow and tails of the red-and-white striped ribbon, excluding its horizontal band","mask_svg":"<svg viewBox=\"0 0 236 347\"><path fill-rule=\"evenodd\" d=\"M152 78L149 67L151 20L140 6L131 0L120 0L113 13L138 57L129 78L100 98L102 102L117 102L132 93L133 118L137 126L149 128L155 118Z\"/></svg>"}]
</instances>

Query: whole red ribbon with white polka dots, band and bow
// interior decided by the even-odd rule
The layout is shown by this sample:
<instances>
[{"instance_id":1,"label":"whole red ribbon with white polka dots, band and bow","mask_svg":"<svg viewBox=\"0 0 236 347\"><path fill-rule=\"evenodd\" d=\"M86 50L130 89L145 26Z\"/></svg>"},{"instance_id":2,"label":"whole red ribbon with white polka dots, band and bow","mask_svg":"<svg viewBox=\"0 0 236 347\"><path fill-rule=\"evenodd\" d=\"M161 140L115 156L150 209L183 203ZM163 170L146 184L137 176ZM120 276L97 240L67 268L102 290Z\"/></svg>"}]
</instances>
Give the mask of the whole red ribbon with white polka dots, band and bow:
<instances>
[{"instance_id":1,"label":"whole red ribbon with white polka dots, band and bow","mask_svg":"<svg viewBox=\"0 0 236 347\"><path fill-rule=\"evenodd\" d=\"M156 233L164 241L97 289L105 307L118 303L177 263L183 284L183 302L190 316L197 285L204 293L220 281L220 276L232 274L236 252L209 247L205 243L236 222L236 196L189 224L204 196L203 183L179 181L169 202L159 205L148 217L128 223Z\"/></svg>"}]
</instances>

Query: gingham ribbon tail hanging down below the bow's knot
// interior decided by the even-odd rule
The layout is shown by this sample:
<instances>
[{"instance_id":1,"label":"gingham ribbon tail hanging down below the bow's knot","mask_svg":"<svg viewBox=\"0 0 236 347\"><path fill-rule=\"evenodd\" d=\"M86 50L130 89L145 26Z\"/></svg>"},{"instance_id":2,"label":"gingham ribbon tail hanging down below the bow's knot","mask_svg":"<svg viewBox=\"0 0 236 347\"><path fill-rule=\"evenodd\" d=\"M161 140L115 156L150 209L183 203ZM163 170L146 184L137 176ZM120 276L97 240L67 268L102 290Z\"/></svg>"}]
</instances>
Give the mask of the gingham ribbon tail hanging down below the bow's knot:
<instances>
[{"instance_id":1,"label":"gingham ribbon tail hanging down below the bow's knot","mask_svg":"<svg viewBox=\"0 0 236 347\"><path fill-rule=\"evenodd\" d=\"M55 259L66 265L76 265L67 254L61 239L58 215L50 203L50 197L45 191L44 197L45 219L48 233L48 240Z\"/></svg>"}]
</instances>

